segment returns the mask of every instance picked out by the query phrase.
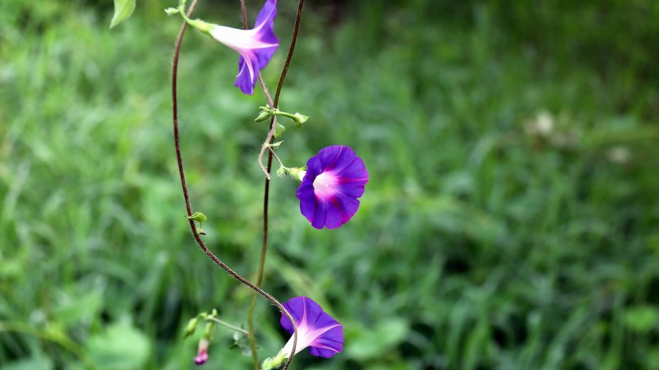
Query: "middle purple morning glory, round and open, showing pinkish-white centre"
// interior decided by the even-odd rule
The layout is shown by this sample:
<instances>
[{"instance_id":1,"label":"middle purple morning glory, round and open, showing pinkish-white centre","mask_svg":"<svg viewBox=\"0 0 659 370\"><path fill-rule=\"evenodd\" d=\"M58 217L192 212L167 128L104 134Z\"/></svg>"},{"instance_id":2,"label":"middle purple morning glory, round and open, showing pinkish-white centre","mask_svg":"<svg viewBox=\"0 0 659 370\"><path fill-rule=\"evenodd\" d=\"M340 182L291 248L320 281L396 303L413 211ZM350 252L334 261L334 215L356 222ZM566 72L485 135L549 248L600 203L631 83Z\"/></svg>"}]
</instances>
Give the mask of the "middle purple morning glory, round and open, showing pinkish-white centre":
<instances>
[{"instance_id":1,"label":"middle purple morning glory, round and open, showing pinkish-white centre","mask_svg":"<svg viewBox=\"0 0 659 370\"><path fill-rule=\"evenodd\" d=\"M359 208L368 182L362 158L344 145L327 146L309 158L297 188L300 211L315 228L338 228Z\"/></svg>"}]
</instances>

